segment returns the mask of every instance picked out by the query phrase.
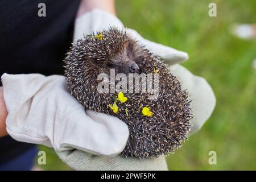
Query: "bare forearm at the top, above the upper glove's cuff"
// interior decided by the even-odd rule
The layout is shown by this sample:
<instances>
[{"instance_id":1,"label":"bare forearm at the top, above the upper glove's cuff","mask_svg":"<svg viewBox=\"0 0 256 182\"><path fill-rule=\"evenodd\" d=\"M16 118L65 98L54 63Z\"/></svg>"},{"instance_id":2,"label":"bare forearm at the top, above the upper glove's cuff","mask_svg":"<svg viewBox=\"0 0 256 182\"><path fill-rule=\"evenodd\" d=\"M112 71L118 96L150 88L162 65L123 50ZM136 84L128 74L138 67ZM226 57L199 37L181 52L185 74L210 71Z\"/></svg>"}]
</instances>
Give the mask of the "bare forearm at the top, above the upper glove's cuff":
<instances>
[{"instance_id":1,"label":"bare forearm at the top, above the upper glove's cuff","mask_svg":"<svg viewBox=\"0 0 256 182\"><path fill-rule=\"evenodd\" d=\"M115 15L114 0L82 0L80 2L76 17L79 17L80 15L96 8Z\"/></svg>"}]
</instances>

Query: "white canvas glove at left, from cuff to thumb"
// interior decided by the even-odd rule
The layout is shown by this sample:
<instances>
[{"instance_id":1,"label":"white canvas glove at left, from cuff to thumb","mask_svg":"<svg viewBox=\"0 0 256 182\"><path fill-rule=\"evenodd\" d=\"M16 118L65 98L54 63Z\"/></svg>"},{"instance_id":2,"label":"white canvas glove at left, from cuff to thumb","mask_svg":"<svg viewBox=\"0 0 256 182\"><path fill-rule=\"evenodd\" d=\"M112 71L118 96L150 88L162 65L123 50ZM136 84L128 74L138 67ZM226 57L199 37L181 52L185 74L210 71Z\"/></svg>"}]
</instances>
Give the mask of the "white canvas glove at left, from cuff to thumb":
<instances>
[{"instance_id":1,"label":"white canvas glove at left, from cuff to thumb","mask_svg":"<svg viewBox=\"0 0 256 182\"><path fill-rule=\"evenodd\" d=\"M56 151L73 146L95 155L119 154L125 147L129 137L125 123L90 110L85 114L84 106L67 91L64 76L5 73L1 78L6 130L15 140Z\"/></svg>"}]
</instances>

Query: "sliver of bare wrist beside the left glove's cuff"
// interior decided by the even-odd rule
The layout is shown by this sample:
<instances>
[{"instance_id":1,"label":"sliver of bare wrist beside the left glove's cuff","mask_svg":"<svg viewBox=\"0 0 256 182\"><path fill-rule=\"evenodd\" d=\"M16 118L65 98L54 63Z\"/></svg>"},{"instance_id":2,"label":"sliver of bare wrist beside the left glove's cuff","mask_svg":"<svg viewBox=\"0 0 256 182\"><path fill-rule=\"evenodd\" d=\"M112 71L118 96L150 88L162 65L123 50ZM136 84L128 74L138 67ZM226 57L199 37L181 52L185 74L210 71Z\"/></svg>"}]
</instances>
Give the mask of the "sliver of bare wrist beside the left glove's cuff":
<instances>
[{"instance_id":1,"label":"sliver of bare wrist beside the left glove's cuff","mask_svg":"<svg viewBox=\"0 0 256 182\"><path fill-rule=\"evenodd\" d=\"M0 86L0 137L7 135L6 131L6 120L7 110L5 106L5 101L3 100L3 87Z\"/></svg>"}]
</instances>

